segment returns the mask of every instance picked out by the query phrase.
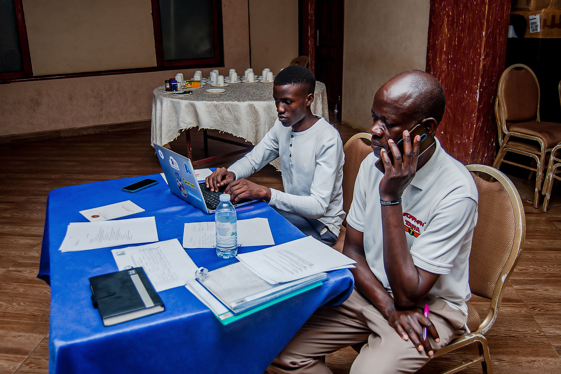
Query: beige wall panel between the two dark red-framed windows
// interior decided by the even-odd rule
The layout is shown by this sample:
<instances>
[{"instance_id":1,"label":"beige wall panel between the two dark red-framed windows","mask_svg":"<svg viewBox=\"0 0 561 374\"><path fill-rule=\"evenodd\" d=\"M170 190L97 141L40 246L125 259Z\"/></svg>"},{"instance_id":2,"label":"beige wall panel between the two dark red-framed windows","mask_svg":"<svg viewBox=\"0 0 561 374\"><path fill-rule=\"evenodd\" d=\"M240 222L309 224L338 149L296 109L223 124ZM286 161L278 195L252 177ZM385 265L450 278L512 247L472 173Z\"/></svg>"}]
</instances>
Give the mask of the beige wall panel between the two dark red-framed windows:
<instances>
[{"instance_id":1,"label":"beige wall panel between the two dark red-framed windows","mask_svg":"<svg viewBox=\"0 0 561 374\"><path fill-rule=\"evenodd\" d=\"M24 0L33 75L156 66L150 0Z\"/></svg>"}]
</instances>

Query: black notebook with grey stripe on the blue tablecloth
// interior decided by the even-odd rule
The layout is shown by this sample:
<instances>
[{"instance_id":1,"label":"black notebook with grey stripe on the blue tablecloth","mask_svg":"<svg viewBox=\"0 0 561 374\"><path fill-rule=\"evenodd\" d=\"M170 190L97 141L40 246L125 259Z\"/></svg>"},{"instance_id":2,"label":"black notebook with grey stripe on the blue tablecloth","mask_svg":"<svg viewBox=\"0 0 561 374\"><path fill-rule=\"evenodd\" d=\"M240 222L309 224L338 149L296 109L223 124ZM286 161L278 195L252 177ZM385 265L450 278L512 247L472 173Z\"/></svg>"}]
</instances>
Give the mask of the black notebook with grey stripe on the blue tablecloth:
<instances>
[{"instance_id":1,"label":"black notebook with grey stripe on the blue tablecloth","mask_svg":"<svg viewBox=\"0 0 561 374\"><path fill-rule=\"evenodd\" d=\"M142 267L90 278L91 301L111 326L163 312L164 303Z\"/></svg>"}]
</instances>

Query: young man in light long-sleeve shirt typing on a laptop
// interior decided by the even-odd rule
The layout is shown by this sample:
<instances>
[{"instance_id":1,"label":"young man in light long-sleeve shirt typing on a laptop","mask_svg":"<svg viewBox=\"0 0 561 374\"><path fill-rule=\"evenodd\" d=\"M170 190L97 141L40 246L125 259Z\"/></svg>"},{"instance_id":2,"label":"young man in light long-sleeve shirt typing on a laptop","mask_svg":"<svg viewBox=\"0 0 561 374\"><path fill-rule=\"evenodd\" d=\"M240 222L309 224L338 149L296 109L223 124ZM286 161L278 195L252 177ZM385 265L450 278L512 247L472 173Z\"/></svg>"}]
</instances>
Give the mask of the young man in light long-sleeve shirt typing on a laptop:
<instances>
[{"instance_id":1,"label":"young man in light long-sleeve shirt typing on a laptop","mask_svg":"<svg viewBox=\"0 0 561 374\"><path fill-rule=\"evenodd\" d=\"M260 199L304 234L332 246L343 222L343 142L339 132L315 116L315 77L303 66L289 66L275 77L273 98L278 119L250 153L228 169L206 178L211 191L227 186L232 202ZM280 158L285 192L248 181L270 161Z\"/></svg>"}]
</instances>

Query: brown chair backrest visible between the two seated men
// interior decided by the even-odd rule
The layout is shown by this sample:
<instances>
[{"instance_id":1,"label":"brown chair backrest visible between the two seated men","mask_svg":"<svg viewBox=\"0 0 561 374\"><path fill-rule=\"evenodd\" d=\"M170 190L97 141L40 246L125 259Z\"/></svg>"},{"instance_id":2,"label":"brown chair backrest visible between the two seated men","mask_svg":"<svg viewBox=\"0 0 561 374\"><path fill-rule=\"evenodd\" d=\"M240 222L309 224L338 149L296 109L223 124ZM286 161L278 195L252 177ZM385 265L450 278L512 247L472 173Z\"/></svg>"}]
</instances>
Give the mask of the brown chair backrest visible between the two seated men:
<instances>
[{"instance_id":1,"label":"brown chair backrest visible between the two seated men","mask_svg":"<svg viewBox=\"0 0 561 374\"><path fill-rule=\"evenodd\" d=\"M351 137L343 146L345 154L345 163L343 165L343 210L345 213L349 213L351 207L360 164L372 152L370 145L367 145L363 139L368 140L370 143L371 138L372 135L369 133L360 132ZM347 227L347 218L344 219L343 226Z\"/></svg>"}]
</instances>

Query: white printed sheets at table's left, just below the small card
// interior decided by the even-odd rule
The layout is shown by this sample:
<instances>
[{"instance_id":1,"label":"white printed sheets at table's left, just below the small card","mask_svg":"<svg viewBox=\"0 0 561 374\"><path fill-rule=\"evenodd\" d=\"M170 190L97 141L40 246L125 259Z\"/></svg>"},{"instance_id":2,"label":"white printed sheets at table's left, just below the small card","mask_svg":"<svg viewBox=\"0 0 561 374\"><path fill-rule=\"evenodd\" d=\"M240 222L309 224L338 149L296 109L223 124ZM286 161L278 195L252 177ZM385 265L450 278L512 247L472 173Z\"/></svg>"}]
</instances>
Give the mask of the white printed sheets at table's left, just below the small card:
<instances>
[{"instance_id":1,"label":"white printed sheets at table's left, just below the small card","mask_svg":"<svg viewBox=\"0 0 561 374\"><path fill-rule=\"evenodd\" d=\"M62 252L85 251L157 241L155 217L73 222L68 225L65 239L58 249Z\"/></svg>"}]
</instances>

